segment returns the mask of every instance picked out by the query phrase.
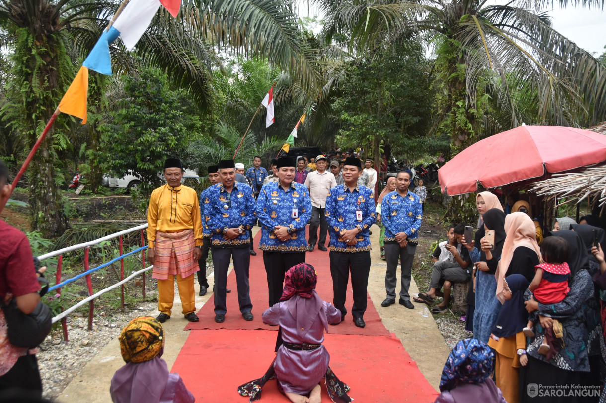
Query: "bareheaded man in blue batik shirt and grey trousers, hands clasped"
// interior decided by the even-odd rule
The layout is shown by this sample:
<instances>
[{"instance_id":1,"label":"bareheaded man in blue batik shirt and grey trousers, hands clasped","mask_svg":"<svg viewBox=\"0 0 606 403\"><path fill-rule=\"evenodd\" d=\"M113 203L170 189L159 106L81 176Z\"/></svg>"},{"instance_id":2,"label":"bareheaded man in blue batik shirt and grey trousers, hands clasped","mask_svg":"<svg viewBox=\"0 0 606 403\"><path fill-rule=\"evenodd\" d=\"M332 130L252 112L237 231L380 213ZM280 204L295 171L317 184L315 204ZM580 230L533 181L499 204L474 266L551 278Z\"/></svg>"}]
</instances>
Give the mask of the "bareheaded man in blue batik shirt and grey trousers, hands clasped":
<instances>
[{"instance_id":1,"label":"bareheaded man in blue batik shirt and grey trousers, hands clasped","mask_svg":"<svg viewBox=\"0 0 606 403\"><path fill-rule=\"evenodd\" d=\"M385 226L385 289L387 298L381 303L388 307L396 303L396 270L398 260L402 262L402 289L398 303L415 309L410 301L408 288L412 275L413 259L418 242L418 232L423 218L423 205L418 195L408 191L410 172L401 171L396 177L396 190L388 193L381 203L381 220Z\"/></svg>"}]
</instances>

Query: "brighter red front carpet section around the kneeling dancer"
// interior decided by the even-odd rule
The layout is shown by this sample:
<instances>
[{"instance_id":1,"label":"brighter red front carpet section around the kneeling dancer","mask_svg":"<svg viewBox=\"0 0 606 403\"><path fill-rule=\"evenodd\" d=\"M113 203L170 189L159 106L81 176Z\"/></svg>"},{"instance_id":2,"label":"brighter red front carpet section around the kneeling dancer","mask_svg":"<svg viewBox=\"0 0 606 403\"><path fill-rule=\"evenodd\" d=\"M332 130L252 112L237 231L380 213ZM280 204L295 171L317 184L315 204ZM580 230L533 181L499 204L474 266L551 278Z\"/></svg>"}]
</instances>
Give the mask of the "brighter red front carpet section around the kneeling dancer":
<instances>
[{"instance_id":1,"label":"brighter red front carpet section around the kneeling dancer","mask_svg":"<svg viewBox=\"0 0 606 403\"><path fill-rule=\"evenodd\" d=\"M190 332L171 372L181 375L196 401L247 403L248 397L238 395L238 385L261 378L274 357L275 341L275 331L268 330L196 330ZM350 385L349 395L356 402L425 403L438 396L393 335L328 333L324 346L331 354L331 369ZM271 380L261 402L289 401ZM323 383L322 402L331 402Z\"/></svg>"}]
</instances>

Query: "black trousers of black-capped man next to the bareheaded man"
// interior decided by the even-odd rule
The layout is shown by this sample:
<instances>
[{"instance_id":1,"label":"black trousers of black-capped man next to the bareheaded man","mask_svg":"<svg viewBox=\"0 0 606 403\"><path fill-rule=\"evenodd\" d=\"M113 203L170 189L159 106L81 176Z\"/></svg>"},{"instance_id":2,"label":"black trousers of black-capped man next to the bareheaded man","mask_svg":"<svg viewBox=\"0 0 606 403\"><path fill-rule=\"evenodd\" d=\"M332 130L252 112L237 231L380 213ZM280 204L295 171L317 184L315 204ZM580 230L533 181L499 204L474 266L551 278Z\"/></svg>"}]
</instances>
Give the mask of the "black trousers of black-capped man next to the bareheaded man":
<instances>
[{"instance_id":1,"label":"black trousers of black-capped man next to the bareheaded man","mask_svg":"<svg viewBox=\"0 0 606 403\"><path fill-rule=\"evenodd\" d=\"M333 252L330 251L330 274L333 277L333 305L347 313L345 309L345 296L347 283L351 272L351 288L353 289L353 307L351 315L361 318L366 312L366 290L368 287L368 274L370 274L370 251L364 252Z\"/></svg>"}]
</instances>

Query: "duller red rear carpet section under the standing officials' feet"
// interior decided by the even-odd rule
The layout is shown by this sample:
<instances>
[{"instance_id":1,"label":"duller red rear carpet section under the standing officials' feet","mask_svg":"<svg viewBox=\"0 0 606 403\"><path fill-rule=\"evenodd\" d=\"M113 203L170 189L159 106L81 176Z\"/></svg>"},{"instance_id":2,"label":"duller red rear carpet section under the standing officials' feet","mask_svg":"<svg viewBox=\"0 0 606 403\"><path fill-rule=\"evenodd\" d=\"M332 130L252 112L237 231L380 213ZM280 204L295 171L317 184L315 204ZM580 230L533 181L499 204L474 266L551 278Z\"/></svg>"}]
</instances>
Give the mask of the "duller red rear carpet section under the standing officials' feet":
<instances>
[{"instance_id":1,"label":"duller red rear carpet section under the standing officials' feet","mask_svg":"<svg viewBox=\"0 0 606 403\"><path fill-rule=\"evenodd\" d=\"M261 231L255 237L255 245L259 244L261 238ZM215 322L215 304L211 297L207 303L204 304L201 310L198 312L199 322L188 323L185 326L185 330L199 330L199 329L267 329L275 330L275 327L268 326L263 323L261 315L265 309L268 309L268 290L267 290L267 277L265 274L265 266L263 264L263 252L259 249L255 249L257 252L256 256L250 257L250 272L248 274L248 281L250 282L250 300L253 303L253 314L255 319L253 321L245 321L242 318L238 307L238 288L236 287L236 274L232 270L227 276L227 289L231 290L231 293L227 294L227 314L225 315L224 323ZM209 257L210 259L210 257ZM316 286L316 292L324 301L332 303L333 301L333 283L330 276L330 262L328 259L328 252L319 251L316 249L313 252L307 252L305 257L307 263L310 263L315 267L318 273L318 286ZM338 326L331 326L331 333L339 333L342 335L366 335L366 336L381 336L388 335L389 332L385 329L379 313L376 311L370 297L368 297L368 307L364 313L364 321L366 327L361 329L353 324L353 317L351 316L351 306L353 304L353 293L351 292L351 281L348 284L347 289L347 300L345 307L347 308L347 316L345 321ZM262 375L262 373L261 373ZM261 376L259 375L259 376Z\"/></svg>"}]
</instances>

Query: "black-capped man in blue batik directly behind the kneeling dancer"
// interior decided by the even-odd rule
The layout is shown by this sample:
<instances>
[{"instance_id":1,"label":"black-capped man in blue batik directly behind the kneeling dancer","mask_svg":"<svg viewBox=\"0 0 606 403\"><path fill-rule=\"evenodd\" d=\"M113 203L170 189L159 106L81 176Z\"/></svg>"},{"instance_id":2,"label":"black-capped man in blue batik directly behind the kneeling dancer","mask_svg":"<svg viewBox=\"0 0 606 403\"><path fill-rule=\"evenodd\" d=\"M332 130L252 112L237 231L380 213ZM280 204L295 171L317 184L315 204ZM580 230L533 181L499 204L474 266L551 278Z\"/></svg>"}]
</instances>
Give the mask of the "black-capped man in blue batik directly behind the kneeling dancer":
<instances>
[{"instance_id":1,"label":"black-capped man in blue batik directly behind the kneeling dancer","mask_svg":"<svg viewBox=\"0 0 606 403\"><path fill-rule=\"evenodd\" d=\"M267 183L257 199L257 217L261 223L259 249L267 273L269 306L282 297L284 275L290 267L305 261L309 248L305 226L311 218L311 199L304 185L295 179L295 159L276 161L278 182Z\"/></svg>"}]
</instances>

